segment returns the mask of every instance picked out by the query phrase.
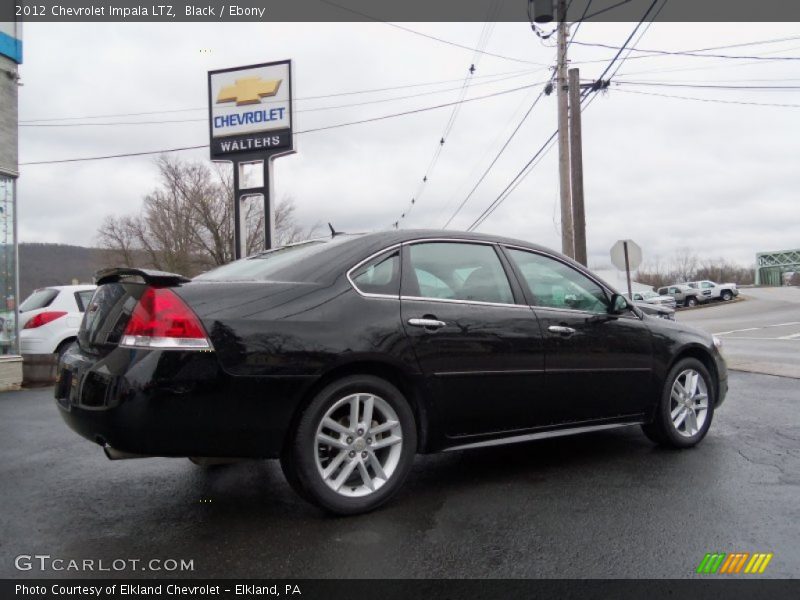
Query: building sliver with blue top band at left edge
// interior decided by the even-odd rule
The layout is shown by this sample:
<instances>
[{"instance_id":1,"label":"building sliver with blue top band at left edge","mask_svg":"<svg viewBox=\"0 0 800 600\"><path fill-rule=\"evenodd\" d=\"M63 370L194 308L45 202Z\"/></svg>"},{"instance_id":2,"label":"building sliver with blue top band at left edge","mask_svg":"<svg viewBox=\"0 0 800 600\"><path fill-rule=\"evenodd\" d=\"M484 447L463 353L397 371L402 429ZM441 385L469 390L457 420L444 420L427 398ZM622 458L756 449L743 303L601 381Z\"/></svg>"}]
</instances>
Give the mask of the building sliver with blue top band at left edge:
<instances>
[{"instance_id":1,"label":"building sliver with blue top band at left edge","mask_svg":"<svg viewBox=\"0 0 800 600\"><path fill-rule=\"evenodd\" d=\"M0 22L0 390L22 381L17 272L18 65L22 24Z\"/></svg>"}]
</instances>

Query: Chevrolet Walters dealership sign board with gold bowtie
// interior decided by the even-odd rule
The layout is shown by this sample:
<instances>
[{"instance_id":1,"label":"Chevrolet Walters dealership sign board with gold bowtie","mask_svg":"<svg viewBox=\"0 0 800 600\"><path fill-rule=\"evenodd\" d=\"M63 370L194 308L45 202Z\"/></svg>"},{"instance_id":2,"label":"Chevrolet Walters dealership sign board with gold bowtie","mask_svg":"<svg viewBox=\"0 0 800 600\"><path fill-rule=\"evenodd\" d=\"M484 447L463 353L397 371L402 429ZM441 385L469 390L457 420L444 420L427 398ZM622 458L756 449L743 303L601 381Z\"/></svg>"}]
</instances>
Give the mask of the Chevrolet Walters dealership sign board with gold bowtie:
<instances>
[{"instance_id":1,"label":"Chevrolet Walters dealership sign board with gold bowtie","mask_svg":"<svg viewBox=\"0 0 800 600\"><path fill-rule=\"evenodd\" d=\"M211 158L293 150L292 63L209 71Z\"/></svg>"}]
</instances>

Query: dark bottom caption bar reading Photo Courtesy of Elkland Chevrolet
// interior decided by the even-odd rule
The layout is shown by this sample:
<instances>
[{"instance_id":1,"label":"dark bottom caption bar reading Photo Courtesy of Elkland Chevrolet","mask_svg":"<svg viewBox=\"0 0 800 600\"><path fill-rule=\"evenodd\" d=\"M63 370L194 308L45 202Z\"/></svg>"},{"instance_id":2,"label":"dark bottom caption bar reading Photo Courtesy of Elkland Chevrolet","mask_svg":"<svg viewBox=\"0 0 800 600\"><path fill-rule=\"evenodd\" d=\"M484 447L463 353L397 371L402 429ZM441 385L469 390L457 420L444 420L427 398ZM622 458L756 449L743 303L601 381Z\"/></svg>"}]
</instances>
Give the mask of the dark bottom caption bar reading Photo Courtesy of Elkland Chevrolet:
<instances>
[{"instance_id":1,"label":"dark bottom caption bar reading Photo Courtesy of Elkland Chevrolet","mask_svg":"<svg viewBox=\"0 0 800 600\"><path fill-rule=\"evenodd\" d=\"M4 600L36 598L258 599L258 600L784 600L800 595L800 582L752 577L704 576L691 580L654 579L38 579L0 581Z\"/></svg>"}]
</instances>

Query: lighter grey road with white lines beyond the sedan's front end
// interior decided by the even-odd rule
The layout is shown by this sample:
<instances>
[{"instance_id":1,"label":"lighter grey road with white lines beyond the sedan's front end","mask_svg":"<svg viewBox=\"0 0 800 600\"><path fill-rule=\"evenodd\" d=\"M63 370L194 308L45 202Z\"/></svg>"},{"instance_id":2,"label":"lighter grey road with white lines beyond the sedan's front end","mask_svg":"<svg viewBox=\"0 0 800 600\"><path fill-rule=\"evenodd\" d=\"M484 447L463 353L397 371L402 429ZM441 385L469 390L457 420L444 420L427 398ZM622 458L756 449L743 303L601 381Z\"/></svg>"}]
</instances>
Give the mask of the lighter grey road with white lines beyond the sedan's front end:
<instances>
[{"instance_id":1,"label":"lighter grey road with white lines beyond the sedan's front end","mask_svg":"<svg viewBox=\"0 0 800 600\"><path fill-rule=\"evenodd\" d=\"M676 318L720 337L732 369L800 379L800 287L744 288L740 297Z\"/></svg>"}]
</instances>

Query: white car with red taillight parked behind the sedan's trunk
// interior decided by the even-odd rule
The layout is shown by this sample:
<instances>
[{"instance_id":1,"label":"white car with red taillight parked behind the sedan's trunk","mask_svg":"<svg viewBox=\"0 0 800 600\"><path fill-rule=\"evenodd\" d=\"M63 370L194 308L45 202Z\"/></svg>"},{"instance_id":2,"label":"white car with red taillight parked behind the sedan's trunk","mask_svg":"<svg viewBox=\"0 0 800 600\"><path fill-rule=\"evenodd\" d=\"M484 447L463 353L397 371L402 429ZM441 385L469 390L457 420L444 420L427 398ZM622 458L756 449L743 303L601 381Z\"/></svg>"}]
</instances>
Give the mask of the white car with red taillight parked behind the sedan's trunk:
<instances>
[{"instance_id":1,"label":"white car with red taillight parked behind the sedan's trunk","mask_svg":"<svg viewBox=\"0 0 800 600\"><path fill-rule=\"evenodd\" d=\"M63 354L78 335L96 285L60 285L35 290L19 305L20 352Z\"/></svg>"}]
</instances>

